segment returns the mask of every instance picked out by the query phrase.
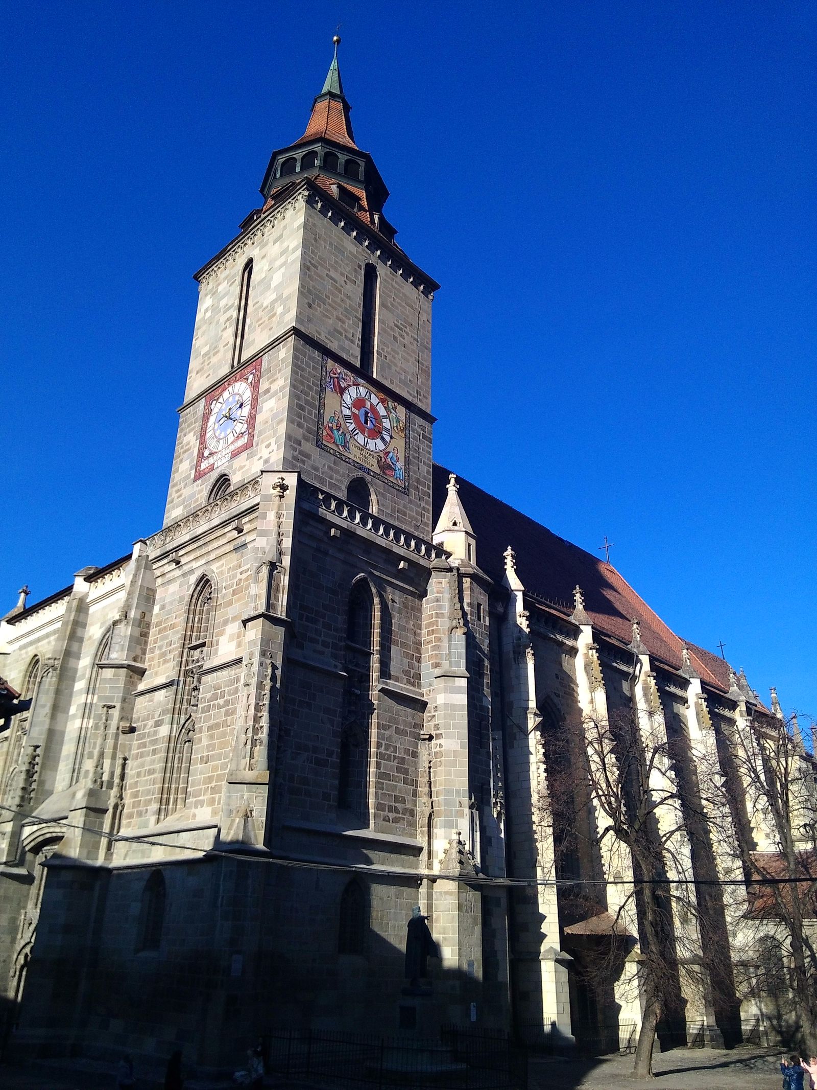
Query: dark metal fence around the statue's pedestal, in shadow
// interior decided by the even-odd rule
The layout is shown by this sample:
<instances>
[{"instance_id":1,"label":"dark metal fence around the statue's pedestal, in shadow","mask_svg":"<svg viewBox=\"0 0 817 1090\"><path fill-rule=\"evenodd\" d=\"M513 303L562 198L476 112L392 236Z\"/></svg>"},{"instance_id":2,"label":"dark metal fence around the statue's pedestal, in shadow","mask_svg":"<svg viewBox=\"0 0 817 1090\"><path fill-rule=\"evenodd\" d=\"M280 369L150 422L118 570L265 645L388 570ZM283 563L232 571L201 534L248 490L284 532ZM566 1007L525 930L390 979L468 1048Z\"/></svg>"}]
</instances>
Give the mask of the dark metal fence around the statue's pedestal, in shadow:
<instances>
[{"instance_id":1,"label":"dark metal fence around the statue's pedestal, in shadow","mask_svg":"<svg viewBox=\"0 0 817 1090\"><path fill-rule=\"evenodd\" d=\"M450 1026L439 1040L373 1038L333 1030L272 1030L270 1074L344 1088L527 1090L527 1055L508 1034Z\"/></svg>"}]
</instances>

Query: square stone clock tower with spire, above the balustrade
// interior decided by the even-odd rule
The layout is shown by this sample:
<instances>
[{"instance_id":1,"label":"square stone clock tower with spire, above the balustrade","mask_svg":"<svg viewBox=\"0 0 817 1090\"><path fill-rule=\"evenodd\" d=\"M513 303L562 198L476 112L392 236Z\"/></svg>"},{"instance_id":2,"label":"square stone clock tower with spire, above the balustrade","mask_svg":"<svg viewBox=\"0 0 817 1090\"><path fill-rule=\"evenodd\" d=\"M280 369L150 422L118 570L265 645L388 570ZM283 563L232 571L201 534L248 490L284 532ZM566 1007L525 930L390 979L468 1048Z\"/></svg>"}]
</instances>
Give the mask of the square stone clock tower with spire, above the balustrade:
<instances>
[{"instance_id":1,"label":"square stone clock tower with spire, above the balustrade","mask_svg":"<svg viewBox=\"0 0 817 1090\"><path fill-rule=\"evenodd\" d=\"M303 135L272 153L261 207L196 275L166 525L214 485L276 469L340 496L355 481L379 516L430 534L438 284L394 241L389 191L352 131L339 41Z\"/></svg>"}]
</instances>

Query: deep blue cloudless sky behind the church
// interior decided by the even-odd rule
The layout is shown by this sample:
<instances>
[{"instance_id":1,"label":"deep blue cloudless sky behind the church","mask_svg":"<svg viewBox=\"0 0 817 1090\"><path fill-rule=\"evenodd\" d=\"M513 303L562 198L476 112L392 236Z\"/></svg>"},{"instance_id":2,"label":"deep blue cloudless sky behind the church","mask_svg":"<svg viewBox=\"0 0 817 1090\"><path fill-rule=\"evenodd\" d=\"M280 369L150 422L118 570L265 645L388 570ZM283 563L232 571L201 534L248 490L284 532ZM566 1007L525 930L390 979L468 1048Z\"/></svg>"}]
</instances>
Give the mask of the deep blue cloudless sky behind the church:
<instances>
[{"instance_id":1,"label":"deep blue cloudless sky behind the church","mask_svg":"<svg viewBox=\"0 0 817 1090\"><path fill-rule=\"evenodd\" d=\"M5 5L0 608L161 523L191 274L355 135L435 302L438 461L817 714L815 44L803 0Z\"/></svg>"}]
</instances>

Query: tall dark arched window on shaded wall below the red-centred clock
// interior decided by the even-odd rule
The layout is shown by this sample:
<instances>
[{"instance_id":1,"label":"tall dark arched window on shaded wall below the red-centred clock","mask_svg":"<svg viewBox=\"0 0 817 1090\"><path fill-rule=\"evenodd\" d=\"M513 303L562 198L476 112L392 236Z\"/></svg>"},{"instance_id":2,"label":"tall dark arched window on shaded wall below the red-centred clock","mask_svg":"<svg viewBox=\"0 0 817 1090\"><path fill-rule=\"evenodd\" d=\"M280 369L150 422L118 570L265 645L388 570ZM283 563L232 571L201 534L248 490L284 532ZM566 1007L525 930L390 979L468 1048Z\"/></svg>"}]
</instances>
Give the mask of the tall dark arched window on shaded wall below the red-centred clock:
<instances>
[{"instance_id":1,"label":"tall dark arched window on shaded wall below the red-centred clock","mask_svg":"<svg viewBox=\"0 0 817 1090\"><path fill-rule=\"evenodd\" d=\"M371 588L358 579L349 595L346 682L338 750L338 808L364 824L369 821L369 750L374 673L375 606Z\"/></svg>"}]
</instances>

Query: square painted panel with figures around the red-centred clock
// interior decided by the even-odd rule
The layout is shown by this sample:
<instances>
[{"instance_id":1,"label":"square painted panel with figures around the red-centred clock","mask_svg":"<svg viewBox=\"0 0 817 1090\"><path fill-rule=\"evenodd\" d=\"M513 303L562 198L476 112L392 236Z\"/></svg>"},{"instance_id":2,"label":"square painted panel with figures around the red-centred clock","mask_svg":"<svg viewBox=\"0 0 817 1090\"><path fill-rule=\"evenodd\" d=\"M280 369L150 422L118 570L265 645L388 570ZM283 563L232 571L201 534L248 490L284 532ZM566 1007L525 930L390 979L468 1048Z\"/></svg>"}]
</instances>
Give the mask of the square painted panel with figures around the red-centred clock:
<instances>
[{"instance_id":1,"label":"square painted panel with figures around the red-centred clock","mask_svg":"<svg viewBox=\"0 0 817 1090\"><path fill-rule=\"evenodd\" d=\"M369 378L324 356L318 446L408 492L408 410Z\"/></svg>"}]
</instances>

